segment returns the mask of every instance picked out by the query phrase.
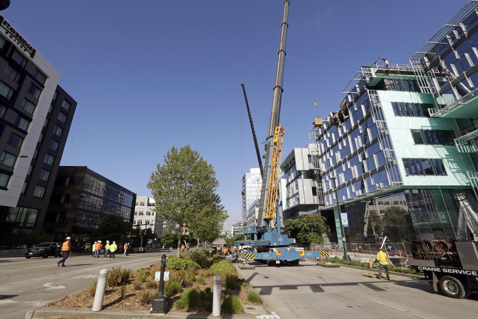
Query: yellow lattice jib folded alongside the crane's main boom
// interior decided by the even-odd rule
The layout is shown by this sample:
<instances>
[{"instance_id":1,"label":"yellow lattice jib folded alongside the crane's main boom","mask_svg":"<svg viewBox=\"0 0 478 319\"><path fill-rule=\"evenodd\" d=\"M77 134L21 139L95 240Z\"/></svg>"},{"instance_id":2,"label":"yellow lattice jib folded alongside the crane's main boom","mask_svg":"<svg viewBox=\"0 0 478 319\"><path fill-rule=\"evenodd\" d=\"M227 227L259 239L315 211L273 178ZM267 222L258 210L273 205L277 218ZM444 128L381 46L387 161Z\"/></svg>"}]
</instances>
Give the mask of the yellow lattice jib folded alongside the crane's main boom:
<instances>
[{"instance_id":1,"label":"yellow lattice jib folded alongside the crane's main boom","mask_svg":"<svg viewBox=\"0 0 478 319\"><path fill-rule=\"evenodd\" d=\"M270 164L269 189L264 208L264 219L274 219L275 203L277 201L277 189L279 188L279 166L282 153L282 139L284 138L285 128L279 125L274 130L272 138L272 158Z\"/></svg>"}]
</instances>

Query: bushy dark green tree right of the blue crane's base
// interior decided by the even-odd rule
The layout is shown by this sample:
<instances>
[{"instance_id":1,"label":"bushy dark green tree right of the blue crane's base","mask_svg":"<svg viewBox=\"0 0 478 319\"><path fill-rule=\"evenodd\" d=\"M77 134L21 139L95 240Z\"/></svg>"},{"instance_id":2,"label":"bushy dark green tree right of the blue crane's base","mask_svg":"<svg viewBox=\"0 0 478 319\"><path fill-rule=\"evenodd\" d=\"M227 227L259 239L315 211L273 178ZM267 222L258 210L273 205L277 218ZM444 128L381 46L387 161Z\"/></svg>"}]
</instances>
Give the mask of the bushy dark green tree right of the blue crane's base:
<instances>
[{"instance_id":1,"label":"bushy dark green tree right of the blue crane's base","mask_svg":"<svg viewBox=\"0 0 478 319\"><path fill-rule=\"evenodd\" d=\"M323 243L322 235L330 233L326 219L321 215L300 215L296 219L287 219L284 226L297 244L304 247L310 247L310 243Z\"/></svg>"}]
</instances>

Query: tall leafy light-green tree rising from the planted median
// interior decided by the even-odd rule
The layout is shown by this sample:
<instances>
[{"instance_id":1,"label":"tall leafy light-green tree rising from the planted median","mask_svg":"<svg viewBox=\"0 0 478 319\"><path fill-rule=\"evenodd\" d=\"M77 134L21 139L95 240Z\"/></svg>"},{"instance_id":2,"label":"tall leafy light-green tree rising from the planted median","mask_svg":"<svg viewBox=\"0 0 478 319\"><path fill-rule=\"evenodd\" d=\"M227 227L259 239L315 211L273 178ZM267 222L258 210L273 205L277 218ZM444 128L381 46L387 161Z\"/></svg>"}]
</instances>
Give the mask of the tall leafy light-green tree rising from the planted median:
<instances>
[{"instance_id":1,"label":"tall leafy light-green tree rising from the planted median","mask_svg":"<svg viewBox=\"0 0 478 319\"><path fill-rule=\"evenodd\" d=\"M202 234L205 218L216 218L216 222L221 223L217 211L224 212L224 206L216 194L218 186L214 167L189 145L180 150L173 146L164 156L164 164L157 165L147 183L156 201L154 211L163 219L186 224L198 234ZM180 247L178 240L178 257Z\"/></svg>"}]
</instances>

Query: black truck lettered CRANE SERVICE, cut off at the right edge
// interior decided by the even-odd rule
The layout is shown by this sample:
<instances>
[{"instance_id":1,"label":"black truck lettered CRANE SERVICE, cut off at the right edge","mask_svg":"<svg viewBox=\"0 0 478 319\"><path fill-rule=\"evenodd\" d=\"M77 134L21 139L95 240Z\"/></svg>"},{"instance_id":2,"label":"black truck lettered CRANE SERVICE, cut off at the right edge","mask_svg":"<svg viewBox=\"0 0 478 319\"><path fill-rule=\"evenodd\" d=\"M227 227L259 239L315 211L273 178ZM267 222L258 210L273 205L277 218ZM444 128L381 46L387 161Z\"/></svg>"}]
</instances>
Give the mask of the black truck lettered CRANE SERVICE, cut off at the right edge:
<instances>
[{"instance_id":1,"label":"black truck lettered CRANE SERVICE, cut off at the right edge","mask_svg":"<svg viewBox=\"0 0 478 319\"><path fill-rule=\"evenodd\" d=\"M411 246L410 268L423 272L436 292L460 299L478 291L478 242L426 240Z\"/></svg>"}]
</instances>

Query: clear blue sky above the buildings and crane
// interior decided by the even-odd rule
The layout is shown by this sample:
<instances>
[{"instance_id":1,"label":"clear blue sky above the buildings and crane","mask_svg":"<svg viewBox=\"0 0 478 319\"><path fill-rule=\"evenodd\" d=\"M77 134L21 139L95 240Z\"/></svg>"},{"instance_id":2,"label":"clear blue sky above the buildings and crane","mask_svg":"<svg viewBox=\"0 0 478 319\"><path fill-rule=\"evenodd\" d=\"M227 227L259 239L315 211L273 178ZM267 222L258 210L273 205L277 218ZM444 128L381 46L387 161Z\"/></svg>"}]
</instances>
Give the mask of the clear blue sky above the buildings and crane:
<instances>
[{"instance_id":1,"label":"clear blue sky above the buildings and crane","mask_svg":"<svg viewBox=\"0 0 478 319\"><path fill-rule=\"evenodd\" d=\"M466 0L290 0L283 158L310 142L314 117L339 108L360 65L408 58ZM270 118L282 0L11 0L3 14L61 73L78 102L61 160L140 196L173 146L190 144L239 220L240 178L257 167ZM313 107L317 100L318 112Z\"/></svg>"}]
</instances>

